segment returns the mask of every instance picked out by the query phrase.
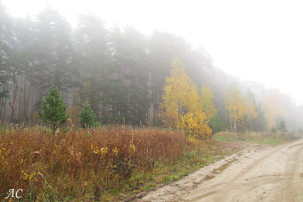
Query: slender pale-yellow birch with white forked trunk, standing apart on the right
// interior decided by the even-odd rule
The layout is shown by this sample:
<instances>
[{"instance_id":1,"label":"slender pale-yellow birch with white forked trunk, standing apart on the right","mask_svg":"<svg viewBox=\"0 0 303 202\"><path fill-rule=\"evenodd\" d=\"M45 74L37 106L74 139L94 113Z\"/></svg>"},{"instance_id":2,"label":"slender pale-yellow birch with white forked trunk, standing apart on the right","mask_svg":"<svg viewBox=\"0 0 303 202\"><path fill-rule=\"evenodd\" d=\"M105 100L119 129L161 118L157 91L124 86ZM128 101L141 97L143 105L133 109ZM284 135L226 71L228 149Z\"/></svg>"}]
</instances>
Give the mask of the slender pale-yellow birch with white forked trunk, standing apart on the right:
<instances>
[{"instance_id":1,"label":"slender pale-yellow birch with white forked trunk, standing apart on the right","mask_svg":"<svg viewBox=\"0 0 303 202\"><path fill-rule=\"evenodd\" d=\"M231 124L231 131L236 132L237 124L242 121L244 116L244 101L238 84L235 80L225 93L225 109Z\"/></svg>"}]
</instances>

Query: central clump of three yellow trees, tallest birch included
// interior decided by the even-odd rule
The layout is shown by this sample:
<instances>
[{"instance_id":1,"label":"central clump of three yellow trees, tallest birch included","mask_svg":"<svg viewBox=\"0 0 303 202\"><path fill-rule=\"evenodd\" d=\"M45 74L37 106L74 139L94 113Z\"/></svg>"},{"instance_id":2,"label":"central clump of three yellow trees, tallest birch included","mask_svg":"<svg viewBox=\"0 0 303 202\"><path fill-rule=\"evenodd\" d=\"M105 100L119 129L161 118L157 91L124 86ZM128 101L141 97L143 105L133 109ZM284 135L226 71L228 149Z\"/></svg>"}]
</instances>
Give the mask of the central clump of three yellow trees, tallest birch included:
<instances>
[{"instance_id":1,"label":"central clump of three yellow trees, tallest birch included","mask_svg":"<svg viewBox=\"0 0 303 202\"><path fill-rule=\"evenodd\" d=\"M170 76L165 78L158 117L166 127L184 129L188 141L211 137L208 120L216 110L212 102L212 91L208 85L202 86L202 96L195 83L185 72L180 58L171 61Z\"/></svg>"}]
</instances>

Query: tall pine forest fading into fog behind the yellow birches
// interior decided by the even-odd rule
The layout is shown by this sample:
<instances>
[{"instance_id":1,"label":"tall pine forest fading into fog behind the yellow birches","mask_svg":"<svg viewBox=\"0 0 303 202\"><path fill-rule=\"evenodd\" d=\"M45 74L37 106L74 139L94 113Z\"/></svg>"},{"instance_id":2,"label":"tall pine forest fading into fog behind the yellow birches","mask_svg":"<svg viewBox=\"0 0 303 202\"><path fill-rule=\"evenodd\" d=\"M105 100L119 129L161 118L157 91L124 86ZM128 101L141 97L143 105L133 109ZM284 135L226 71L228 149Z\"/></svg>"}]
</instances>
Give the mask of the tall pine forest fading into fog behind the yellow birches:
<instances>
[{"instance_id":1,"label":"tall pine forest fading into fog behind the yellow birches","mask_svg":"<svg viewBox=\"0 0 303 202\"><path fill-rule=\"evenodd\" d=\"M207 83L213 92L217 110L211 120L213 131L230 129L225 93L235 77L213 67L202 46L193 47L169 32L155 30L146 36L132 26L108 28L94 13L79 14L74 29L52 8L35 17L13 18L0 3L1 120L37 123L45 93L54 85L74 124L88 101L102 124L125 120L161 125L156 115L163 85L170 61L178 57L197 88L201 91ZM251 98L258 114L249 127L240 124L238 130L267 131L281 119L289 131L303 125L303 106L296 106L289 95L236 79L243 98Z\"/></svg>"}]
</instances>

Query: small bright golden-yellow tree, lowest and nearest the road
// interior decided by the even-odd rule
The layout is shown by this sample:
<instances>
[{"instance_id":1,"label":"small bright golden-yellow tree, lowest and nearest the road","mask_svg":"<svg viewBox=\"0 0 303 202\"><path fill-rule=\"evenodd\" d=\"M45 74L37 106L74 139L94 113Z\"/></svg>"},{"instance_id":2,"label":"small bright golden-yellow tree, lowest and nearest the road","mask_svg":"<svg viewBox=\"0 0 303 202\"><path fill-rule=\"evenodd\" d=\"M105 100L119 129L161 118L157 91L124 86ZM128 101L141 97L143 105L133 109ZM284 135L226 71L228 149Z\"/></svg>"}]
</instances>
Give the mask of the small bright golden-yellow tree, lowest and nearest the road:
<instances>
[{"instance_id":1,"label":"small bright golden-yellow tree, lowest and nearest the road","mask_svg":"<svg viewBox=\"0 0 303 202\"><path fill-rule=\"evenodd\" d=\"M198 138L207 139L211 137L212 130L208 125L208 117L201 107L191 111L181 117L180 128L185 130L188 141L195 143Z\"/></svg>"}]
</instances>

